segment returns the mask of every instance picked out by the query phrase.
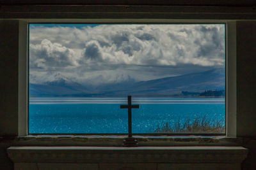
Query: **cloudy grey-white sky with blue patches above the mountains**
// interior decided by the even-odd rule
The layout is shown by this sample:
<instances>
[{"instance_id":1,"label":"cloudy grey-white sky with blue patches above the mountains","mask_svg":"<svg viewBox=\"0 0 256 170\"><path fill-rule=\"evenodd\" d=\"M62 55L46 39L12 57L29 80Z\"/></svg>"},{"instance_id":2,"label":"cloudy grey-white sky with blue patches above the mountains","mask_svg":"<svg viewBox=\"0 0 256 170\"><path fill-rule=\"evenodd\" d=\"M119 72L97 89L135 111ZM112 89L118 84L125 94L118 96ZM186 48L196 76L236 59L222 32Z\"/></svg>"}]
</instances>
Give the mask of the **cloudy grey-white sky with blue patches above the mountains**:
<instances>
[{"instance_id":1,"label":"cloudy grey-white sky with blue patches above the mountains","mask_svg":"<svg viewBox=\"0 0 256 170\"><path fill-rule=\"evenodd\" d=\"M224 24L30 24L29 81L144 81L225 67Z\"/></svg>"}]
</instances>

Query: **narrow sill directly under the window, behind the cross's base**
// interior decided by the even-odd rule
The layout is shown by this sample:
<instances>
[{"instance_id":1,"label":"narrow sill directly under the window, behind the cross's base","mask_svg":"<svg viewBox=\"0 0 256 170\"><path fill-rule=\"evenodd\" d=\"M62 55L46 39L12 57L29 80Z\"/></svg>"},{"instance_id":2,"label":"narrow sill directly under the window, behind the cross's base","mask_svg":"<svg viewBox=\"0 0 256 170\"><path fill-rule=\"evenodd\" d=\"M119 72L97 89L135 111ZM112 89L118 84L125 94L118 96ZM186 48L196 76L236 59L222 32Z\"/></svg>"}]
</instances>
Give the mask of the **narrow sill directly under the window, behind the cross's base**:
<instances>
[{"instance_id":1,"label":"narrow sill directly under the window, behind the cross's base","mask_svg":"<svg viewBox=\"0 0 256 170\"><path fill-rule=\"evenodd\" d=\"M15 138L16 146L122 146L127 136L37 135ZM139 146L241 146L226 136L134 136Z\"/></svg>"}]
</instances>

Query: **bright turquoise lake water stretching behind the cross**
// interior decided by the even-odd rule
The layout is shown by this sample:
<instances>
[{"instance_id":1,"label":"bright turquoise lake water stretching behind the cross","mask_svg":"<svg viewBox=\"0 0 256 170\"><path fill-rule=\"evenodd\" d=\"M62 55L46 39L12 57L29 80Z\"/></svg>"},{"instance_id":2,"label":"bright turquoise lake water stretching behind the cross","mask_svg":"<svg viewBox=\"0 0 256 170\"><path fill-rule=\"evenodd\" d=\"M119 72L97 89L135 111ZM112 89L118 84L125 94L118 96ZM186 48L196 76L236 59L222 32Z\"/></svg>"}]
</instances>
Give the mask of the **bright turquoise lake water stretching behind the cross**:
<instances>
[{"instance_id":1,"label":"bright turquoise lake water stretching behind the cross","mask_svg":"<svg viewBox=\"0 0 256 170\"><path fill-rule=\"evenodd\" d=\"M125 98L30 98L29 134L124 134L128 131ZM135 98L132 133L150 133L157 126L173 125L196 117L225 124L225 99Z\"/></svg>"}]
</instances>

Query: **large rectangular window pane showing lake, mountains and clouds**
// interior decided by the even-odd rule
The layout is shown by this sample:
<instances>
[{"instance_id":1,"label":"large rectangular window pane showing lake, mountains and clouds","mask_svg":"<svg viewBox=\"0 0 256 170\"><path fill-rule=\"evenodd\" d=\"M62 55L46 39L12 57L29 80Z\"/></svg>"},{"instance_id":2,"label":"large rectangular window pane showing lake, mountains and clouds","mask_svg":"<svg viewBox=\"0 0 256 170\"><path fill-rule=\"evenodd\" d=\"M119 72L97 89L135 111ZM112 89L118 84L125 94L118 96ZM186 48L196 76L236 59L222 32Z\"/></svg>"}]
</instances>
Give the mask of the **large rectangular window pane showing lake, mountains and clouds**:
<instances>
[{"instance_id":1,"label":"large rectangular window pane showing lake, mountains and clouds","mask_svg":"<svg viewBox=\"0 0 256 170\"><path fill-rule=\"evenodd\" d=\"M29 24L29 134L225 134L225 24Z\"/></svg>"}]
</instances>

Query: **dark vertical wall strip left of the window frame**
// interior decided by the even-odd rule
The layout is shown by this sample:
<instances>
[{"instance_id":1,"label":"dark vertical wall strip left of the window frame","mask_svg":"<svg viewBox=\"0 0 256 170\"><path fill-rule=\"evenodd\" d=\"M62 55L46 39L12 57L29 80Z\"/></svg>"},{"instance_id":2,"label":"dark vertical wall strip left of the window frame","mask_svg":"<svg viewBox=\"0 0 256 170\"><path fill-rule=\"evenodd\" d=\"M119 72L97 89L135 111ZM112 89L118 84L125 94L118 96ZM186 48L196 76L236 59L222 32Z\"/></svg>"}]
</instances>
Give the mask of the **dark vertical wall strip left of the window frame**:
<instances>
[{"instance_id":1,"label":"dark vertical wall strip left of the window frame","mask_svg":"<svg viewBox=\"0 0 256 170\"><path fill-rule=\"evenodd\" d=\"M18 135L19 21L0 20L0 136Z\"/></svg>"}]
</instances>

